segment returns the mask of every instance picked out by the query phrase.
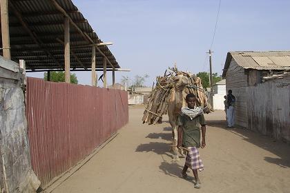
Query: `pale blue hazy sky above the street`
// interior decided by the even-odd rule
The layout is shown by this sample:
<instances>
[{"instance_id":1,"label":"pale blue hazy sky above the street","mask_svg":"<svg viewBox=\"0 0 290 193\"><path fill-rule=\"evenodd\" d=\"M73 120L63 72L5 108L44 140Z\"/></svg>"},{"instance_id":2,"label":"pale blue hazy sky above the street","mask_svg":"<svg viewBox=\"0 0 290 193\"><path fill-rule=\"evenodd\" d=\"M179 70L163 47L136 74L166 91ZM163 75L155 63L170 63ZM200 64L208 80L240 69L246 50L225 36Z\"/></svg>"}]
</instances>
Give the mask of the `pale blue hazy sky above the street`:
<instances>
[{"instance_id":1,"label":"pale blue hazy sky above the street","mask_svg":"<svg viewBox=\"0 0 290 193\"><path fill-rule=\"evenodd\" d=\"M134 79L148 74L152 85L174 63L184 71L222 74L229 51L290 50L290 1L221 0L72 0L99 38L113 41L108 48L123 69L116 72ZM81 84L90 85L91 72L76 72ZM28 74L42 77L43 73ZM98 76L101 72L98 72ZM108 84L112 75L108 74Z\"/></svg>"}]
</instances>

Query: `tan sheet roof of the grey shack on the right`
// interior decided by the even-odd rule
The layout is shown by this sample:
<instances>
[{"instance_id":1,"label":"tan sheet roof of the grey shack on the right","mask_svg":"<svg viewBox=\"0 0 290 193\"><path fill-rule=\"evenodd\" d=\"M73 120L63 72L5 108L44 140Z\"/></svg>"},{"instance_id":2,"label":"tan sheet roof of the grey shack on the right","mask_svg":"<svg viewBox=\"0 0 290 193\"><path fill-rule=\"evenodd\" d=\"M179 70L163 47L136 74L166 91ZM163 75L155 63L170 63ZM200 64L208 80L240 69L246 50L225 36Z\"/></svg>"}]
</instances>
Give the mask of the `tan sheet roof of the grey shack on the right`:
<instances>
[{"instance_id":1,"label":"tan sheet roof of the grey shack on the right","mask_svg":"<svg viewBox=\"0 0 290 193\"><path fill-rule=\"evenodd\" d=\"M236 51L228 52L222 77L226 76L231 59L244 69L287 70L290 69L290 51Z\"/></svg>"}]
</instances>

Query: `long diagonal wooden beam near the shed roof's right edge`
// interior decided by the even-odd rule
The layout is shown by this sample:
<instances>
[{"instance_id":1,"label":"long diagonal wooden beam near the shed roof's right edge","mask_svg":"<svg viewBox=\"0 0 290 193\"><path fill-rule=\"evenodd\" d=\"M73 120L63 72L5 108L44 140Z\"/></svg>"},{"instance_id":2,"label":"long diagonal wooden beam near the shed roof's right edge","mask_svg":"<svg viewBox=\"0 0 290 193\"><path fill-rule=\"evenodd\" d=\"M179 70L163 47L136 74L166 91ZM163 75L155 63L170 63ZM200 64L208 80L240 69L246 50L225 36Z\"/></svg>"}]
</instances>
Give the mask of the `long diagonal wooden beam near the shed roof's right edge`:
<instances>
[{"instance_id":1,"label":"long diagonal wooden beam near the shed roof's right edge","mask_svg":"<svg viewBox=\"0 0 290 193\"><path fill-rule=\"evenodd\" d=\"M70 16L69 16L68 13L66 12L66 10L64 10L63 8L61 8L61 6L59 6L59 3L57 3L56 0L50 0L50 1L55 5L55 8L57 8L57 10L59 10L60 12L62 12L62 13L64 14L65 17L68 17L68 18L69 18L70 23L72 24L72 26L75 27L75 29L79 32L79 34L81 34L81 36L84 37L84 39L86 39L89 43L95 43L95 42L93 41L93 39L91 39L91 38L88 36L88 34L86 34L86 32L83 32L83 31L82 31L82 30L77 26L77 24L75 24L75 22L72 21L72 19L70 18ZM96 48L97 48L98 52L100 52L100 53L103 55L103 57L106 58L106 60L108 61L108 63L111 65L111 67L115 69L114 65L113 65L113 64L112 64L112 63L107 59L106 55L105 55L103 52L101 52L101 50L100 50L98 47L96 47Z\"/></svg>"}]
</instances>

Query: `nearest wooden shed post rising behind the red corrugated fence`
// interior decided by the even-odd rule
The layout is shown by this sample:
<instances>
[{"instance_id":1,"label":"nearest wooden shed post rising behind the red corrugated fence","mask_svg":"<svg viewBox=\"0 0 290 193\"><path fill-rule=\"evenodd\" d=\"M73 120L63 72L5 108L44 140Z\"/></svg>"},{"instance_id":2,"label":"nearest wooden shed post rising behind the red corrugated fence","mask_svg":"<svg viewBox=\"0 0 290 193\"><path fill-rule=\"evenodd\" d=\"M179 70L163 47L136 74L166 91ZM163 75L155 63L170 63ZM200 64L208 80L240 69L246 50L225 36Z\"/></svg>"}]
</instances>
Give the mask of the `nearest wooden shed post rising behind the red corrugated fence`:
<instances>
[{"instance_id":1,"label":"nearest wooden shed post rising behind the red corrugated fence","mask_svg":"<svg viewBox=\"0 0 290 193\"><path fill-rule=\"evenodd\" d=\"M70 19L64 17L64 68L66 83L70 83Z\"/></svg>"}]
</instances>

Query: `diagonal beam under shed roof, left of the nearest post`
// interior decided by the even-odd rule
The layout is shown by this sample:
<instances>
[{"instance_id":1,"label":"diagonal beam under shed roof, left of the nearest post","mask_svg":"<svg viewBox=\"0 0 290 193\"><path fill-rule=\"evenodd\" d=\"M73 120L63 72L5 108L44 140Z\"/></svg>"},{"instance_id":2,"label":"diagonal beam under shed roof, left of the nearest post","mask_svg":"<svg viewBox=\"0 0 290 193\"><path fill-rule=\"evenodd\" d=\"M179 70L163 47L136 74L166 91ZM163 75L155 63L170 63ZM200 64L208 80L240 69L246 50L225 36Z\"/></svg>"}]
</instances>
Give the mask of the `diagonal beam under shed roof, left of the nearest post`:
<instances>
[{"instance_id":1,"label":"diagonal beam under shed roof, left of the nearest post","mask_svg":"<svg viewBox=\"0 0 290 193\"><path fill-rule=\"evenodd\" d=\"M43 50L43 52L46 52L46 54L48 54L48 57L50 57L53 61L55 61L55 63L57 63L57 65L59 66L59 68L63 68L60 64L59 61L57 61L57 59L55 59L55 57L53 57L53 55L46 50L45 48L43 48L43 43L42 41L37 37L37 35L32 32L29 28L29 26L27 25L27 23L25 21L23 21L23 17L21 15L21 13L15 8L15 6L13 5L13 3L11 3L11 1L9 1L9 6L12 9L12 11L14 12L14 14L16 15L17 19L19 20L19 22L21 23L21 25L23 26L24 30L26 30L26 32L28 32L28 34L30 35L30 37L32 38L32 40L39 46L39 48L41 48L41 50Z\"/></svg>"}]
</instances>

